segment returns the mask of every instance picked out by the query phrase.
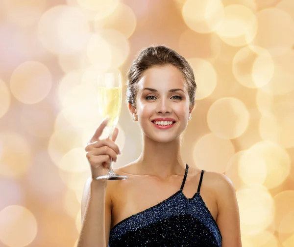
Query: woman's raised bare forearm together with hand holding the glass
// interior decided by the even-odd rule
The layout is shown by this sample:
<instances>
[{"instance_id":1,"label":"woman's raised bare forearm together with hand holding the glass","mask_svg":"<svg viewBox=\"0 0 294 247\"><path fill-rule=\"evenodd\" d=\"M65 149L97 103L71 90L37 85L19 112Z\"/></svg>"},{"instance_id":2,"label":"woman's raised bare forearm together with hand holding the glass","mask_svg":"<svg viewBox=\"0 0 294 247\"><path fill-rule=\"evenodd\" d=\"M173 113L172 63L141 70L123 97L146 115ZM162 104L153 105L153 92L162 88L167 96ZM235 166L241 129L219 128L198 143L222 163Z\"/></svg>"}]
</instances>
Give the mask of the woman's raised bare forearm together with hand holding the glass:
<instances>
[{"instance_id":1,"label":"woman's raised bare forearm together with hand holding the glass","mask_svg":"<svg viewBox=\"0 0 294 247\"><path fill-rule=\"evenodd\" d=\"M118 154L121 154L115 143L119 134L117 127L114 129L112 140L100 139L109 119L107 117L101 122L85 147L91 177L84 186L81 202L82 228L77 247L108 246L112 208L110 193L106 190L108 180L96 178L106 175L110 170L110 158L116 162Z\"/></svg>"}]
</instances>

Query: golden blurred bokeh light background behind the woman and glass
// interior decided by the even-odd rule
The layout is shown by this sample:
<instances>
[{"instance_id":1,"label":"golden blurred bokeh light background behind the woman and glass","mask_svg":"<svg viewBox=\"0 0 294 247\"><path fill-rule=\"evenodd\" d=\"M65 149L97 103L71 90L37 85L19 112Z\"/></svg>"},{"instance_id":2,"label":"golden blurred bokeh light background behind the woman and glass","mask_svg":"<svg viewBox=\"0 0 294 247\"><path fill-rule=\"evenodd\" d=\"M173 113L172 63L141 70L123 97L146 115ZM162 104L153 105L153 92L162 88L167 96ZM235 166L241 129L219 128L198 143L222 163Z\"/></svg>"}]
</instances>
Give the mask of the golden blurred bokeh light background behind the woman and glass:
<instances>
[{"instance_id":1,"label":"golden blurred bokeh light background behind the woman and glass","mask_svg":"<svg viewBox=\"0 0 294 247\"><path fill-rule=\"evenodd\" d=\"M294 246L293 0L1 0L1 247L76 246L97 75L151 44L194 68L181 152L232 180L243 247ZM142 148L125 103L118 127L115 167Z\"/></svg>"}]
</instances>

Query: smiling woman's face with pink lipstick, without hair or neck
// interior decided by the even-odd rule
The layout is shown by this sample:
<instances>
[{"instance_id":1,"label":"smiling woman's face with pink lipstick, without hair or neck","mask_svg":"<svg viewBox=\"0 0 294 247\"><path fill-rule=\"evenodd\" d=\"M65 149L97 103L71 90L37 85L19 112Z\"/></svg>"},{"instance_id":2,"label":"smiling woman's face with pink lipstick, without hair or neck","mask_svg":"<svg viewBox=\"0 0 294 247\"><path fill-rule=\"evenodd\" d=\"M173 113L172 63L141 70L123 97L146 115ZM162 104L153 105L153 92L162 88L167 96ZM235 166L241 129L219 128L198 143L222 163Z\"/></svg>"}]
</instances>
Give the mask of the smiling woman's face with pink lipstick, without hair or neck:
<instances>
[{"instance_id":1,"label":"smiling woman's face with pink lipstick, without hair or neck","mask_svg":"<svg viewBox=\"0 0 294 247\"><path fill-rule=\"evenodd\" d=\"M189 117L189 95L180 70L167 65L145 71L138 82L136 113L147 137L169 142L180 136L187 127ZM152 122L165 117L175 121L171 128L160 129Z\"/></svg>"}]
</instances>

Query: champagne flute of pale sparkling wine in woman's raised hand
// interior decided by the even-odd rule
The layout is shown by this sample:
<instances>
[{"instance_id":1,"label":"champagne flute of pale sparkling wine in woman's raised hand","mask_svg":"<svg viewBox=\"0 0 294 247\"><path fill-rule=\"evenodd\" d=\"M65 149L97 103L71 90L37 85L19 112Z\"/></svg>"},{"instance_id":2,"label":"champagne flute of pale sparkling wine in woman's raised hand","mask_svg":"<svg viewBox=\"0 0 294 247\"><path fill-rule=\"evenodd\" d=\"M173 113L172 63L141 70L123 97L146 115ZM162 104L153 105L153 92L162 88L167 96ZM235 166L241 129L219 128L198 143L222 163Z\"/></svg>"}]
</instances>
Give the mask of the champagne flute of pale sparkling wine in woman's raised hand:
<instances>
[{"instance_id":1,"label":"champagne flute of pale sparkling wine in woman's raised hand","mask_svg":"<svg viewBox=\"0 0 294 247\"><path fill-rule=\"evenodd\" d=\"M108 71L98 75L98 109L102 117L109 116L107 123L108 138L112 140L113 131L119 121L122 109L122 76L117 71ZM116 174L110 157L110 170L105 176L96 179L122 180L127 176Z\"/></svg>"}]
</instances>

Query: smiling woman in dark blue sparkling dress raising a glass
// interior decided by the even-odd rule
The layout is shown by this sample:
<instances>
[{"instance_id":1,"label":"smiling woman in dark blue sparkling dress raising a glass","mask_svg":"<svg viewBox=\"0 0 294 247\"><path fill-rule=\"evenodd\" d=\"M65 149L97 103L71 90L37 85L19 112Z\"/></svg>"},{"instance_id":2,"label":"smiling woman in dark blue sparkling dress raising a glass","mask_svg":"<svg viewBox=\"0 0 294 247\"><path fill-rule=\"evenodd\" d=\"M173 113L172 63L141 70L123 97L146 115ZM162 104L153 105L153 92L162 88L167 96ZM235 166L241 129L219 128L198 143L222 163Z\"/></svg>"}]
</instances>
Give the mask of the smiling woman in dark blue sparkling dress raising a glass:
<instances>
[{"instance_id":1,"label":"smiling woman in dark blue sparkling dress raising a glass","mask_svg":"<svg viewBox=\"0 0 294 247\"><path fill-rule=\"evenodd\" d=\"M196 104L189 63L166 46L145 48L130 66L126 85L143 150L137 160L115 169L127 175L126 180L87 181L78 247L241 247L231 181L221 173L189 166L181 157L181 136ZM105 123L101 126L96 137ZM114 141L102 141L86 147L92 167L101 167L102 154L117 158Z\"/></svg>"}]
</instances>

